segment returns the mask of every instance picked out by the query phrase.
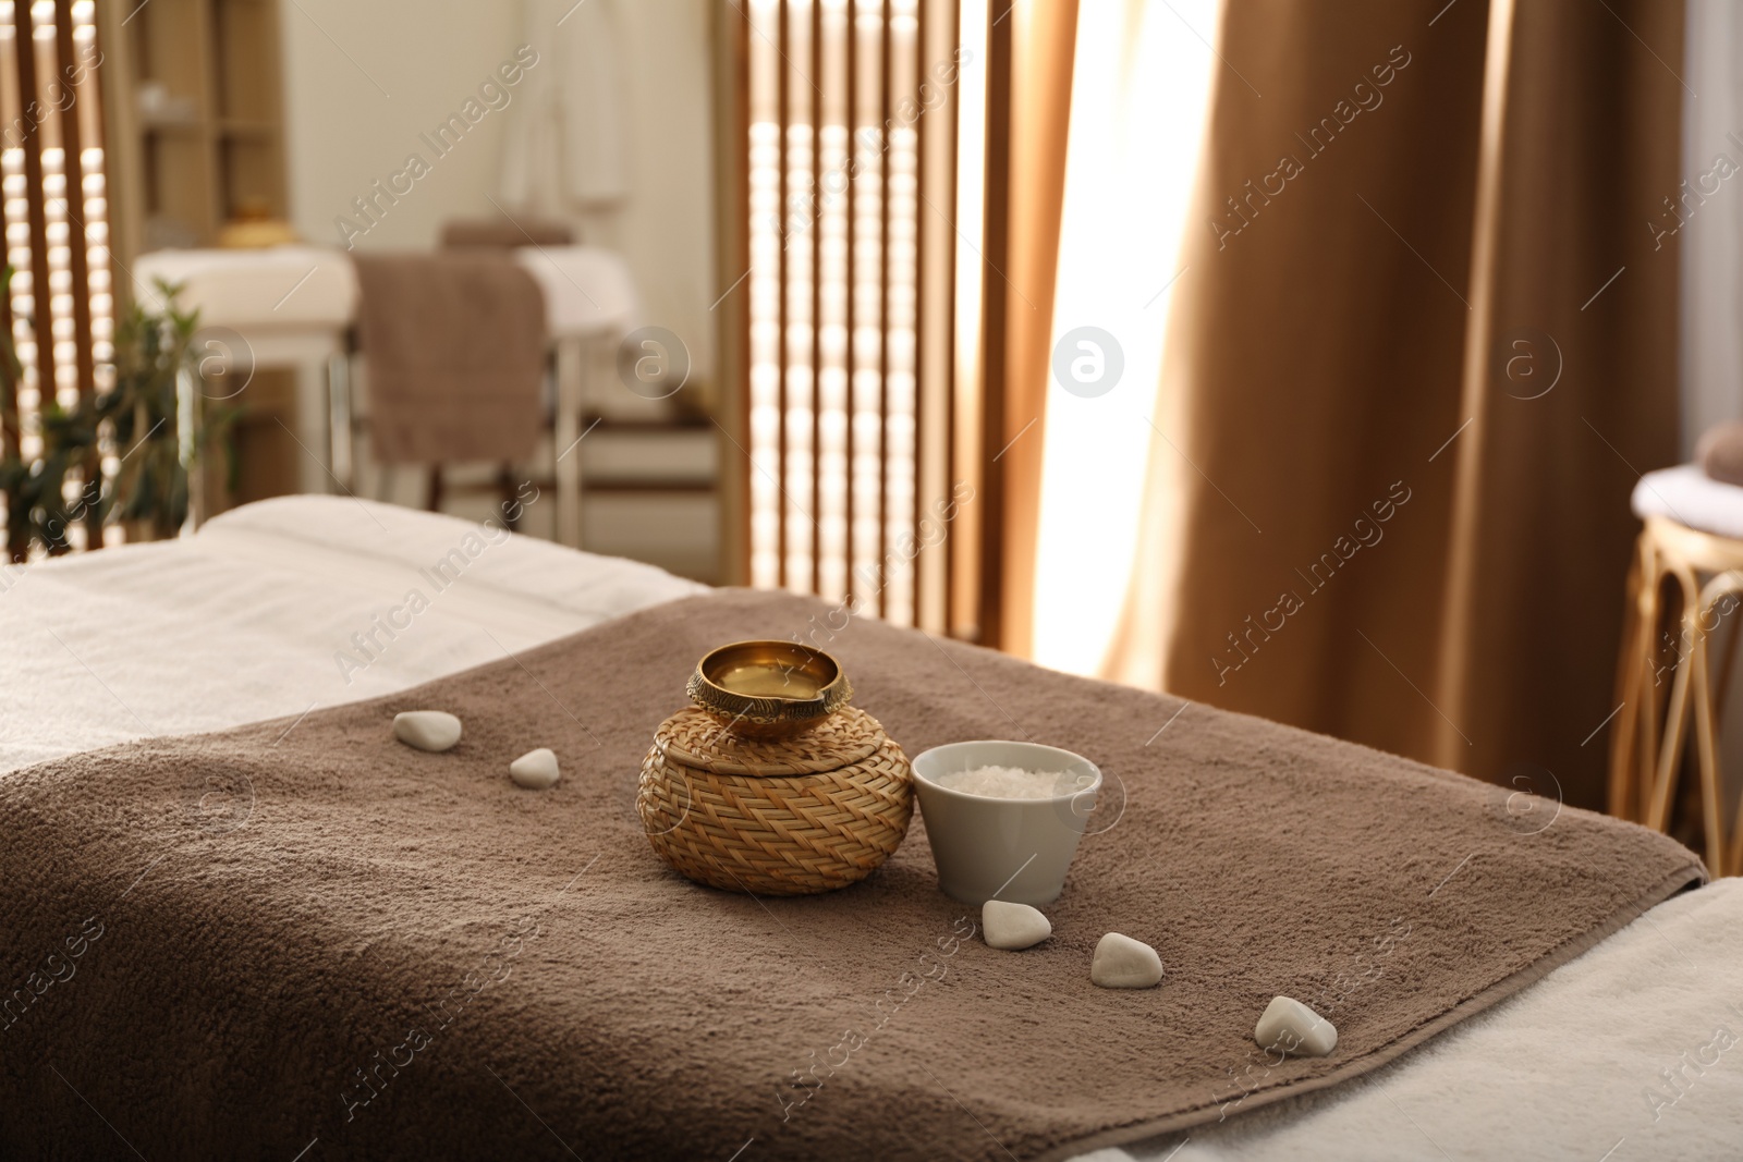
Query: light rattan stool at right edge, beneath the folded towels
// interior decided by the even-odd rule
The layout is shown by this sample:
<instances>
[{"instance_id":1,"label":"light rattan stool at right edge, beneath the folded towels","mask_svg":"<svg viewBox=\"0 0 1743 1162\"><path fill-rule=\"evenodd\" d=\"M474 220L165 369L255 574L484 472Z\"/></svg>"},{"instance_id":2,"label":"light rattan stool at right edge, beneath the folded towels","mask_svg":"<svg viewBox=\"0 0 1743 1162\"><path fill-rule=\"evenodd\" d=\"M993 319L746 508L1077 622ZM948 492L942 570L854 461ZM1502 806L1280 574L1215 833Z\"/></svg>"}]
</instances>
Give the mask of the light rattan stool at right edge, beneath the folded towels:
<instances>
[{"instance_id":1,"label":"light rattan stool at right edge, beneath the folded towels","mask_svg":"<svg viewBox=\"0 0 1743 1162\"><path fill-rule=\"evenodd\" d=\"M1638 507L1637 503L1637 510ZM1665 591L1672 580L1680 591L1682 613L1673 627L1675 660L1665 665L1659 643L1672 632L1665 625ZM1743 803L1738 819L1727 828L1719 768L1720 707L1736 657L1738 625L1743 622L1743 617L1727 615L1740 605L1743 540L1703 533L1668 516L1645 516L1628 571L1623 650L1616 672L1621 711L1611 735L1611 814L1654 831L1668 829L1692 711L1706 848L1703 854L1715 876L1743 873ZM1724 631L1717 683L1708 657L1708 638L1715 631Z\"/></svg>"}]
</instances>

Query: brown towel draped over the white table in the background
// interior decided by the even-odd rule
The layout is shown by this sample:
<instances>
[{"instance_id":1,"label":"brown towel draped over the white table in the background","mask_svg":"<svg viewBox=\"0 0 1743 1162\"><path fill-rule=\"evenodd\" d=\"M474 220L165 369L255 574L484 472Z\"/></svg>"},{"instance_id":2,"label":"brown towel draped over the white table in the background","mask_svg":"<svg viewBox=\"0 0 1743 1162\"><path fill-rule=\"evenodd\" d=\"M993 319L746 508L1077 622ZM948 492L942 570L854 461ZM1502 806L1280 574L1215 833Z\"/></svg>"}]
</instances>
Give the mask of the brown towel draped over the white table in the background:
<instances>
[{"instance_id":1,"label":"brown towel draped over the white table in the background","mask_svg":"<svg viewBox=\"0 0 1743 1162\"><path fill-rule=\"evenodd\" d=\"M498 254L354 256L378 463L519 460L539 443L544 294Z\"/></svg>"}]
</instances>

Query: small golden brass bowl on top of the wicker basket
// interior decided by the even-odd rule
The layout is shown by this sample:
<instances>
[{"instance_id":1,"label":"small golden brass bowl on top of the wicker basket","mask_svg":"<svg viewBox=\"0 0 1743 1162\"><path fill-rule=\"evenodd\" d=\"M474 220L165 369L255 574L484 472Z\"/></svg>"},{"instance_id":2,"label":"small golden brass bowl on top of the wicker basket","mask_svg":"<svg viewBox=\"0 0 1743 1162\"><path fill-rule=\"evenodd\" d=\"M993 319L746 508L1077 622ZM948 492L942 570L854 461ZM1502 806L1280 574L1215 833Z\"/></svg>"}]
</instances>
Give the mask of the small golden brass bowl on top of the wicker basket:
<instances>
[{"instance_id":1,"label":"small golden brass bowl on top of the wicker basket","mask_svg":"<svg viewBox=\"0 0 1743 1162\"><path fill-rule=\"evenodd\" d=\"M715 719L749 737L807 730L854 697L840 662L797 641L734 641L709 650L687 692Z\"/></svg>"}]
</instances>

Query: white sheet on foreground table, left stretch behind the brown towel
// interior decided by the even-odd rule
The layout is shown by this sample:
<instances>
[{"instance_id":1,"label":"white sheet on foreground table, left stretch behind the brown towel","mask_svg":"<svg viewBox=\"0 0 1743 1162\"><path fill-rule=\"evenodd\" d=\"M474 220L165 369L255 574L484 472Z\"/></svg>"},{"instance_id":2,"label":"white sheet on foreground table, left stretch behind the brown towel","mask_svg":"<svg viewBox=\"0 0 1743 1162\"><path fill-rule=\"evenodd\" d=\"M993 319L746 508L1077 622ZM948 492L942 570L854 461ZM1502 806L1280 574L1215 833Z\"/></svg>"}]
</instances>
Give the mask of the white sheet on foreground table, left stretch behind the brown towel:
<instances>
[{"instance_id":1,"label":"white sheet on foreground table, left stretch behind the brown towel","mask_svg":"<svg viewBox=\"0 0 1743 1162\"><path fill-rule=\"evenodd\" d=\"M431 570L455 551L439 589ZM284 497L188 540L7 570L0 591L5 772L404 690L706 587L455 517ZM410 627L389 639L376 615ZM359 650L371 631L383 648Z\"/></svg>"}]
</instances>

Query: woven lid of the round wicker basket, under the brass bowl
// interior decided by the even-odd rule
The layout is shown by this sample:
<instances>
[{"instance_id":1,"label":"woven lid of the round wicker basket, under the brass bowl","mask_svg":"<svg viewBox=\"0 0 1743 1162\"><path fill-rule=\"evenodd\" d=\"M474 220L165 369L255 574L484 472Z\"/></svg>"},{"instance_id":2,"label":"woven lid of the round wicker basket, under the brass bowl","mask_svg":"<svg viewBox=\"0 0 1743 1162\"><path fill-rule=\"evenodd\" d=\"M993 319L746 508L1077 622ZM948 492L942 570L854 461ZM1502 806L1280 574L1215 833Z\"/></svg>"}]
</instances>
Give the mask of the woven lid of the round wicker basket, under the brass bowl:
<instances>
[{"instance_id":1,"label":"woven lid of the round wicker basket, under the brass bowl","mask_svg":"<svg viewBox=\"0 0 1743 1162\"><path fill-rule=\"evenodd\" d=\"M816 775L852 767L884 746L884 728L856 706L783 739L746 739L688 706L654 732L654 746L680 767L716 775Z\"/></svg>"}]
</instances>

